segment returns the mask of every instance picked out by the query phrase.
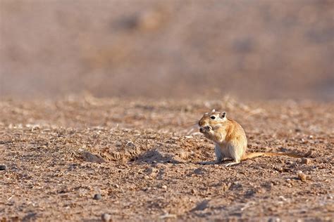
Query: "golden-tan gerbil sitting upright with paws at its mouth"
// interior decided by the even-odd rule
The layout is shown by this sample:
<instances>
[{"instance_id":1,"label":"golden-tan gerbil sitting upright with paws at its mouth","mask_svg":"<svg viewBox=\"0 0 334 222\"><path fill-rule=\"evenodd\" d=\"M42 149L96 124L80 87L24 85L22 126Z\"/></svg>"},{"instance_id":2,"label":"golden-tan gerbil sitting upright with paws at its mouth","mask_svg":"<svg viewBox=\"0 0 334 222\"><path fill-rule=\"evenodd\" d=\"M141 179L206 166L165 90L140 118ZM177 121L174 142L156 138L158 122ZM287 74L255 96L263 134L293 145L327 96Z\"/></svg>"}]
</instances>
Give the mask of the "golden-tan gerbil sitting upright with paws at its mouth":
<instances>
[{"instance_id":1,"label":"golden-tan gerbil sitting upright with paws at its mouth","mask_svg":"<svg viewBox=\"0 0 334 222\"><path fill-rule=\"evenodd\" d=\"M250 152L246 153L247 137L242 126L233 119L226 117L226 112L211 112L204 113L199 120L199 131L204 134L206 138L214 141L216 162L219 163L224 158L233 159L233 162L224 164L225 166L232 166L239 164L242 160L251 159L259 156L288 156L288 157L306 157L307 155L297 155L291 152Z\"/></svg>"}]
</instances>

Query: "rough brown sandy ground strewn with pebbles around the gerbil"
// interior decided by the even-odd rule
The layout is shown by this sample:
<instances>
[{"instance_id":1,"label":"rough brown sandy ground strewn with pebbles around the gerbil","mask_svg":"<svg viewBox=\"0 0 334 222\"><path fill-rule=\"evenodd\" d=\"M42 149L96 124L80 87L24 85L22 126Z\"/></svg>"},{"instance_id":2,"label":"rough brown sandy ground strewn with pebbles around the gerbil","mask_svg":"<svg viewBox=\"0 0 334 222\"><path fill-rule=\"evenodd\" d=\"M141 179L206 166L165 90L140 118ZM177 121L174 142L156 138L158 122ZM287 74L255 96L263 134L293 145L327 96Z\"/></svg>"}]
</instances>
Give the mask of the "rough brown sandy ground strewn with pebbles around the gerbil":
<instances>
[{"instance_id":1,"label":"rough brown sandy ground strewn with pebbles around the gerbil","mask_svg":"<svg viewBox=\"0 0 334 222\"><path fill-rule=\"evenodd\" d=\"M214 145L194 123L211 108L244 126L249 151L312 154L200 165ZM0 218L331 221L333 119L333 103L292 100L2 100Z\"/></svg>"}]
</instances>

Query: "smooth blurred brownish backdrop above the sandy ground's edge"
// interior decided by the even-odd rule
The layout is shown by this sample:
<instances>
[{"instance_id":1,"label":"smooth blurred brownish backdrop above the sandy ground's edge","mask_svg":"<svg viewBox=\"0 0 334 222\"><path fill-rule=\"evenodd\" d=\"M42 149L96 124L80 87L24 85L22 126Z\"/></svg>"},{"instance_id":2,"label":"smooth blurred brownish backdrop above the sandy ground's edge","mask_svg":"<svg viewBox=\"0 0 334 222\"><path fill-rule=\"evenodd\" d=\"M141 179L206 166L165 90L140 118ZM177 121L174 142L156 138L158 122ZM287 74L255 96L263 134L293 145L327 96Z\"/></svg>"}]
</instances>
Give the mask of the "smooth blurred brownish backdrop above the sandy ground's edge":
<instances>
[{"instance_id":1,"label":"smooth blurred brownish backdrop above the sandy ground's edge","mask_svg":"<svg viewBox=\"0 0 334 222\"><path fill-rule=\"evenodd\" d=\"M333 15L333 0L0 0L0 95L333 101Z\"/></svg>"}]
</instances>

